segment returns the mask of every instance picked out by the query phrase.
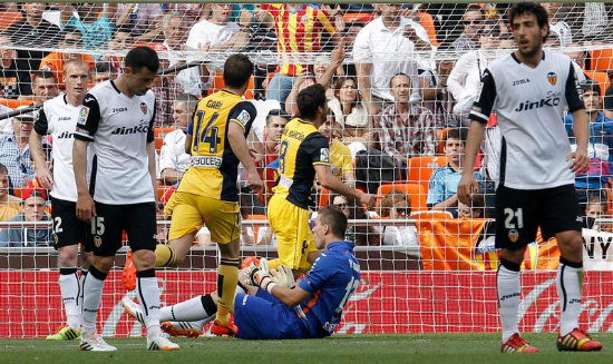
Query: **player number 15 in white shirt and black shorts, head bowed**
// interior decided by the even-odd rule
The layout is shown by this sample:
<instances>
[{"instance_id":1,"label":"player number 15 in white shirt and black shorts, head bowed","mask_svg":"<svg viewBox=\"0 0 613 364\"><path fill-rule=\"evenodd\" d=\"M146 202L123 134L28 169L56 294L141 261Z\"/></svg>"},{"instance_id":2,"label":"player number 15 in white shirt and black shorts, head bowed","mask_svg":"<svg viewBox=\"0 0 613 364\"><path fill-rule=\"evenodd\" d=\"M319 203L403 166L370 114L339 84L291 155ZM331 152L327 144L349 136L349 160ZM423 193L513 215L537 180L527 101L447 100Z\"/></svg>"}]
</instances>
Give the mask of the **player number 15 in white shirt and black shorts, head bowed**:
<instances>
[{"instance_id":1,"label":"player number 15 in white shirt and black shorts, head bowed","mask_svg":"<svg viewBox=\"0 0 613 364\"><path fill-rule=\"evenodd\" d=\"M103 286L126 230L136 266L138 299L145 313L147 348L172 351L178 345L162 335L159 291L155 277L156 194L150 91L159 68L148 47L132 49L124 73L94 87L85 97L72 151L77 181L77 216L91 224L94 262L84 283L84 351L116 351L96 333ZM93 142L91 177L86 181L87 146Z\"/></svg>"}]
</instances>

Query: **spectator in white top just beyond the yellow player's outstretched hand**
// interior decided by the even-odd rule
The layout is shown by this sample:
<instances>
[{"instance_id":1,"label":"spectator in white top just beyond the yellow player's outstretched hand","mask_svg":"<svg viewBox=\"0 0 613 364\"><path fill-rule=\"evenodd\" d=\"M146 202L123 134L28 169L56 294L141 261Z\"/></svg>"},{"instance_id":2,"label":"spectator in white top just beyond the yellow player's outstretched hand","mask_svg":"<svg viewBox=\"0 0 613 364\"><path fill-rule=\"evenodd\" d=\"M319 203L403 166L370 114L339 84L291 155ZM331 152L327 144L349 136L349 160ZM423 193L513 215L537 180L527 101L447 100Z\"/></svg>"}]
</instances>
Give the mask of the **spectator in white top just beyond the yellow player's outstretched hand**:
<instances>
[{"instance_id":1,"label":"spectator in white top just beyond the yellow player's outstretched hand","mask_svg":"<svg viewBox=\"0 0 613 364\"><path fill-rule=\"evenodd\" d=\"M410 215L411 204L408 195L393 191L381 200L382 218L408 219ZM419 248L417 227L409 223L405 226L385 226L381 244Z\"/></svg>"}]
</instances>

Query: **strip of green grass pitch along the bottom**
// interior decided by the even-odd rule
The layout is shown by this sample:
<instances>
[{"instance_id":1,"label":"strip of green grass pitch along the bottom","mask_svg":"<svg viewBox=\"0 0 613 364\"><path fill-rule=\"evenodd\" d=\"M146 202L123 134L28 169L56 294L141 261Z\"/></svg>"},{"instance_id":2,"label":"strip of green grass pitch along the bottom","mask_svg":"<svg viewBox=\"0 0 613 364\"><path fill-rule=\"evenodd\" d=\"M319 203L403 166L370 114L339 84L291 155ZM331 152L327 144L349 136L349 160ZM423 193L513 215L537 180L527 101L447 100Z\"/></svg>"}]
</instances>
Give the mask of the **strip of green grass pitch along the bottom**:
<instances>
[{"instance_id":1,"label":"strip of green grass pitch along the bottom","mask_svg":"<svg viewBox=\"0 0 613 364\"><path fill-rule=\"evenodd\" d=\"M79 352L77 342L0 340L0 363L613 363L613 335L600 353L558 353L555 334L526 334L538 354L500 354L499 334L339 335L324 340L181 338L178 352L147 352L145 338L111 338L115 353Z\"/></svg>"}]
</instances>

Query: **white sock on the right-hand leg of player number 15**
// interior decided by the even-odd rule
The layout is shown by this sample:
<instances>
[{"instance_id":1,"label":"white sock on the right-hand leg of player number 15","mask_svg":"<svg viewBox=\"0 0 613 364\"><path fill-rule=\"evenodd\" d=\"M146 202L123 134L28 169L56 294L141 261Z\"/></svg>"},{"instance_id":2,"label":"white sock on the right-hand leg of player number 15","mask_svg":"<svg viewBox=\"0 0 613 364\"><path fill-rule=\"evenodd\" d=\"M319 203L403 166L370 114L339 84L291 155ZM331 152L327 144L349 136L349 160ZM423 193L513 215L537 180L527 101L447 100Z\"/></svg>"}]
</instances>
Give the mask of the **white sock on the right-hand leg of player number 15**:
<instances>
[{"instance_id":1,"label":"white sock on the right-hand leg of player number 15","mask_svg":"<svg viewBox=\"0 0 613 364\"><path fill-rule=\"evenodd\" d=\"M162 335L159 328L159 288L155 269L136 272L136 292L138 302L145 314L145 326L147 326L147 337L152 338Z\"/></svg>"}]
</instances>

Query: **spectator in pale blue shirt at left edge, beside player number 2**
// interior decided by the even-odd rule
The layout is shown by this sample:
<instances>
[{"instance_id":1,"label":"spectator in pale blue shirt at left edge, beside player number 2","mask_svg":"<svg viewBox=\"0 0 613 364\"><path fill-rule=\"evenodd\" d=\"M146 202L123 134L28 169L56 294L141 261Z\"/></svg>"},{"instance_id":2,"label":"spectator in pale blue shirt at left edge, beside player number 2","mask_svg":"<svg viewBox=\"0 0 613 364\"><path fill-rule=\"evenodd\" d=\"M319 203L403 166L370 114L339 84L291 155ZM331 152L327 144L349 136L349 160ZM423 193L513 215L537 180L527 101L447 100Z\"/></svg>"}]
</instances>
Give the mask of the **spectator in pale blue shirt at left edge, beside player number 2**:
<instances>
[{"instance_id":1,"label":"spectator in pale blue shirt at left edge, beside player number 2","mask_svg":"<svg viewBox=\"0 0 613 364\"><path fill-rule=\"evenodd\" d=\"M25 107L19 107L25 108ZM35 173L30 164L30 132L35 122L32 112L23 112L12 118L11 134L0 135L0 164L9 170L11 187L23 186L27 176Z\"/></svg>"}]
</instances>

